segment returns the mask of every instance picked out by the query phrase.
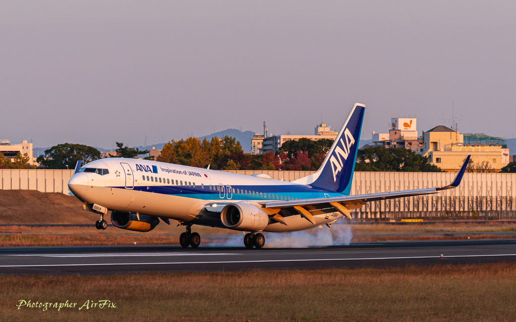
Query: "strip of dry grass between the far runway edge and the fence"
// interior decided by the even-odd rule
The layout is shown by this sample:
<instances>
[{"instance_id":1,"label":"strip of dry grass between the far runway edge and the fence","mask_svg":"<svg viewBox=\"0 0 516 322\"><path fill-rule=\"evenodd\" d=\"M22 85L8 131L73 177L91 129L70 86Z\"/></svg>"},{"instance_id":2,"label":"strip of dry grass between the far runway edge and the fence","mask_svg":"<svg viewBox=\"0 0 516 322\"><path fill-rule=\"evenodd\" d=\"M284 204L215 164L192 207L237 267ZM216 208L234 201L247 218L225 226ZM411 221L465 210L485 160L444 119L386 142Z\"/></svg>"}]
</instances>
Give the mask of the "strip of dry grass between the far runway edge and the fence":
<instances>
[{"instance_id":1,"label":"strip of dry grass between the far runway edge and the fence","mask_svg":"<svg viewBox=\"0 0 516 322\"><path fill-rule=\"evenodd\" d=\"M446 224L436 224L441 228ZM460 225L453 224L459 230ZM464 224L461 224L464 225ZM343 225L335 225L329 229L327 227L314 228L307 231L292 234L266 233L268 247L308 247L332 245L331 240L337 242L339 228ZM345 225L344 225L345 226ZM506 231L504 225L490 227L490 231L481 234L455 235L451 232L444 232L440 235L431 235L427 232L416 232L411 226L401 226L403 229L383 232L376 226L390 228L389 225L372 225L365 227L362 225L351 225L349 231L352 234L351 242L379 242L379 241L423 241L423 240L471 240L475 239L516 239L516 232L507 235L490 234L491 231ZM431 226L431 225L429 225ZM479 226L479 231L484 231L484 225ZM512 225L511 225L512 226ZM380 227L381 228L381 227ZM440 228L440 229L441 229ZM469 227L475 231L475 227ZM154 230L148 233L140 233L118 229L109 226L106 230L96 230L95 227L26 227L26 226L0 226L0 247L8 246L114 246L114 245L178 245L179 235L184 231L184 227L170 226L160 223ZM430 230L431 227L426 227ZM498 230L496 230L498 229ZM436 229L437 230L437 229ZM448 230L448 231L449 231ZM464 229L462 229L464 230ZM194 226L193 231L201 234L202 245L222 245L243 246L241 238L243 233L228 229ZM410 235L397 235L396 233L409 232ZM392 235L384 235L392 233ZM333 235L333 236L332 236ZM329 238L328 243L321 244L321 236ZM322 238L324 239L324 238ZM226 242L231 240L231 245ZM291 240L291 242L285 242ZM299 244L303 240L303 244ZM338 244L338 243L337 243ZM336 245L336 244L334 244Z\"/></svg>"}]
</instances>

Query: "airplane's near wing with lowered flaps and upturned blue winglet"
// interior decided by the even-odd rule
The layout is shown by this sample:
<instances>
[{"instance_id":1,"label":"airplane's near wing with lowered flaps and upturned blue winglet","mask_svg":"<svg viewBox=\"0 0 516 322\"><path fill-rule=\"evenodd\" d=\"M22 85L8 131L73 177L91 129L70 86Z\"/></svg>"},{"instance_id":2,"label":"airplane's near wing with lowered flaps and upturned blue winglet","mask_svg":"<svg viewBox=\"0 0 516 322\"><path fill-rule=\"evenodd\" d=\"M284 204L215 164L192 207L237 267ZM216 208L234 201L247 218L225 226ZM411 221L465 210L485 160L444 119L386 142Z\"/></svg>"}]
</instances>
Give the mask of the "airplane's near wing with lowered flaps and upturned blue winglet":
<instances>
[{"instance_id":1,"label":"airplane's near wing with lowered flaps and upturned blue winglet","mask_svg":"<svg viewBox=\"0 0 516 322\"><path fill-rule=\"evenodd\" d=\"M404 191L393 191L393 192L382 192L373 193L366 195L354 195L354 196L338 196L330 198L314 198L314 199L299 199L299 200L288 200L288 201L266 201L260 202L260 204L271 210L281 210L285 208L295 209L301 216L307 218L308 221L313 222L310 211L317 209L329 209L333 208L343 215L351 219L349 210L362 208L365 202L376 201L383 199L393 199L411 196L420 196L438 193L441 190L454 189L459 186L466 171L467 163L470 161L471 156L467 156L464 164L460 168L459 173L455 177L454 181L445 187L436 188L425 188L415 190L404 190ZM307 209L308 208L308 209Z\"/></svg>"}]
</instances>

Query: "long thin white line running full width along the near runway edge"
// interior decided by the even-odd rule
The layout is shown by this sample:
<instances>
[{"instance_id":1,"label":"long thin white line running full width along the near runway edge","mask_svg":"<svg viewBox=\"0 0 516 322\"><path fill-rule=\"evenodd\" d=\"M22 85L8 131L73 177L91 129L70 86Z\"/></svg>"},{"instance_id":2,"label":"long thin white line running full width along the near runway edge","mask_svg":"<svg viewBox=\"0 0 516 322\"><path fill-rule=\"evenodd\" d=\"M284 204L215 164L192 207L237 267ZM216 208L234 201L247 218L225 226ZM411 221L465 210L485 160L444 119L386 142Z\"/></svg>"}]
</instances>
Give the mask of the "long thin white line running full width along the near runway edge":
<instances>
[{"instance_id":1,"label":"long thin white line running full width along the near runway edge","mask_svg":"<svg viewBox=\"0 0 516 322\"><path fill-rule=\"evenodd\" d=\"M495 256L516 256L516 254L496 255L455 255L444 256L444 258L459 257L495 257ZM375 257L375 258L330 258L330 259L285 259L285 260L262 260L262 261L217 261L217 262L163 262L163 263L97 263L97 264L41 264L41 265L0 265L0 267L52 267L52 266L109 266L109 265L172 265L172 264L237 264L237 263L273 263L273 262L314 262L314 261L357 261L357 260L385 260L385 259L421 259L436 258L441 256L414 256L414 257Z\"/></svg>"}]
</instances>

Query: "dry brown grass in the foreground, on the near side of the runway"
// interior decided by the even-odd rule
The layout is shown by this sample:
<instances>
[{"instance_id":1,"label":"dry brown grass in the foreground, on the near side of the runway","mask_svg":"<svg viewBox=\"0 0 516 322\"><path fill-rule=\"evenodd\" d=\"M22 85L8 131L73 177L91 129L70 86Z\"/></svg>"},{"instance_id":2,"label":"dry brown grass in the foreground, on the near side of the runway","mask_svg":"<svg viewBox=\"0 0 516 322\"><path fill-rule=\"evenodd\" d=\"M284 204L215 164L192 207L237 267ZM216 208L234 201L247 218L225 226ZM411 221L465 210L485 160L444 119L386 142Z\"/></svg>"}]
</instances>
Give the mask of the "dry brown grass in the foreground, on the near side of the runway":
<instances>
[{"instance_id":1,"label":"dry brown grass in the foreground, on the near side of the runway","mask_svg":"<svg viewBox=\"0 0 516 322\"><path fill-rule=\"evenodd\" d=\"M0 316L5 321L513 321L515 276L514 263L6 276L0 277ZM20 300L77 304L43 311L18 309ZM109 300L116 308L78 310L87 300Z\"/></svg>"}]
</instances>

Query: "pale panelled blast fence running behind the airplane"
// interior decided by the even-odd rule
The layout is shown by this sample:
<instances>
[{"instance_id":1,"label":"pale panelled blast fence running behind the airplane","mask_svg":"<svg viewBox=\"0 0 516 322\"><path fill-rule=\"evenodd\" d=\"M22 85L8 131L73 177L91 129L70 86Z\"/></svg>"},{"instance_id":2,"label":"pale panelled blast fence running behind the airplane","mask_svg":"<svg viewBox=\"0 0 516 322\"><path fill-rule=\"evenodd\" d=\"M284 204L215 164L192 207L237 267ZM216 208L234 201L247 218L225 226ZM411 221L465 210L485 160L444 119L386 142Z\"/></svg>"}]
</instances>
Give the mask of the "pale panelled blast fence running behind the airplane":
<instances>
[{"instance_id":1,"label":"pale panelled blast fence running behind the airplane","mask_svg":"<svg viewBox=\"0 0 516 322\"><path fill-rule=\"evenodd\" d=\"M294 181L310 171L226 171L244 175L263 173L272 179ZM68 194L73 170L0 170L3 190L38 190ZM439 187L454 173L356 172L351 194ZM223 182L220 182L223 183ZM439 194L367 202L353 212L357 218L481 216L516 218L516 174L466 173L460 187Z\"/></svg>"}]
</instances>

